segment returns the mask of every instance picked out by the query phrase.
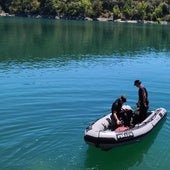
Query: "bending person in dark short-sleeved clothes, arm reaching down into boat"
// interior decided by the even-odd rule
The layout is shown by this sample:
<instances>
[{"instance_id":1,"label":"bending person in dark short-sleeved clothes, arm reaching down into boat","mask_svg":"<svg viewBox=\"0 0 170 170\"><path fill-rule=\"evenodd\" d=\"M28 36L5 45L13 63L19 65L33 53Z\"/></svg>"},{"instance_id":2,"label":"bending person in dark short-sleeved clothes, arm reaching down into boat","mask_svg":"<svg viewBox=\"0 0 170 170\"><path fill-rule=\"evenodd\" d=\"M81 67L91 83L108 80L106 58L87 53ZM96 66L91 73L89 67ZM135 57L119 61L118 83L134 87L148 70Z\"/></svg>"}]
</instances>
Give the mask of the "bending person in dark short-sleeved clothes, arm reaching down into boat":
<instances>
[{"instance_id":1,"label":"bending person in dark short-sleeved clothes, arm reaching down into boat","mask_svg":"<svg viewBox=\"0 0 170 170\"><path fill-rule=\"evenodd\" d=\"M113 104L112 104L112 108L111 108L111 119L112 119L112 123L113 123L113 128L117 128L118 126L121 125L122 123L122 114L123 114L123 103L126 102L126 96L122 95L120 98L116 99Z\"/></svg>"}]
</instances>

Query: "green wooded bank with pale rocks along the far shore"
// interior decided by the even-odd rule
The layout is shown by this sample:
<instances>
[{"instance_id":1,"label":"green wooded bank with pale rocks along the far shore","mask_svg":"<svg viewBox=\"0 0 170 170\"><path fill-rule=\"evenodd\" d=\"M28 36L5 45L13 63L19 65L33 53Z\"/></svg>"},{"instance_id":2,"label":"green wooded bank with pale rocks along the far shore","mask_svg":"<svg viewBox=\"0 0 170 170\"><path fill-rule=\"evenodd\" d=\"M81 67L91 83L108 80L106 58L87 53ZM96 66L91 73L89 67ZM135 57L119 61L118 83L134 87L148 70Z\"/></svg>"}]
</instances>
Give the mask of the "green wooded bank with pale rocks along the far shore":
<instances>
[{"instance_id":1,"label":"green wooded bank with pale rocks along the far shore","mask_svg":"<svg viewBox=\"0 0 170 170\"><path fill-rule=\"evenodd\" d=\"M0 0L0 16L170 24L169 0Z\"/></svg>"}]
</instances>

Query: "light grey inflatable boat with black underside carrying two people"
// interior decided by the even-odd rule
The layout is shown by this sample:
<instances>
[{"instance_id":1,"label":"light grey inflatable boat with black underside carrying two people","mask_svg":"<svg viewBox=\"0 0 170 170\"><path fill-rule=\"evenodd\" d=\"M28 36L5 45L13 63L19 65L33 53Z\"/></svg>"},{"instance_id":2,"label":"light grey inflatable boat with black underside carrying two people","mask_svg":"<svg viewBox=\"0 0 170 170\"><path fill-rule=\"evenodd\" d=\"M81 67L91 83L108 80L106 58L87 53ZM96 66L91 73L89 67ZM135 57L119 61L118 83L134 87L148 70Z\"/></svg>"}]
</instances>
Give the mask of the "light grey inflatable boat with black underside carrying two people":
<instances>
[{"instance_id":1,"label":"light grey inflatable boat with black underside carrying two people","mask_svg":"<svg viewBox=\"0 0 170 170\"><path fill-rule=\"evenodd\" d=\"M132 109L124 105L123 109ZM101 149L111 149L115 146L140 141L142 137L150 133L165 117L167 111L164 108L157 108L148 112L147 118L133 127L121 126L115 130L110 128L111 113L103 116L90 124L85 129L84 140L87 144Z\"/></svg>"}]
</instances>

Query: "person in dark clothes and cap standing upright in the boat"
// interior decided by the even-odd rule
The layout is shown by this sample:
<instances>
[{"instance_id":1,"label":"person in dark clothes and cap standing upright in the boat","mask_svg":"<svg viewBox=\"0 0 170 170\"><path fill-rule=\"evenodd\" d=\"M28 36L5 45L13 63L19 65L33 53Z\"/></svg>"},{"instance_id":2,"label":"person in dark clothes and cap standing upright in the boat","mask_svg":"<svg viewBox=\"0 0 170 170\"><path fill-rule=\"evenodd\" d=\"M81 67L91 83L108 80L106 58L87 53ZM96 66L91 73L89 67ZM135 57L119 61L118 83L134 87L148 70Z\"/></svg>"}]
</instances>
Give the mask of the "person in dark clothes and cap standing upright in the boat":
<instances>
[{"instance_id":1,"label":"person in dark clothes and cap standing upright in the boat","mask_svg":"<svg viewBox=\"0 0 170 170\"><path fill-rule=\"evenodd\" d=\"M134 86L139 89L138 102L136 103L139 112L135 115L137 117L135 123L140 123L147 117L147 111L149 109L148 92L140 80L135 80Z\"/></svg>"}]
</instances>

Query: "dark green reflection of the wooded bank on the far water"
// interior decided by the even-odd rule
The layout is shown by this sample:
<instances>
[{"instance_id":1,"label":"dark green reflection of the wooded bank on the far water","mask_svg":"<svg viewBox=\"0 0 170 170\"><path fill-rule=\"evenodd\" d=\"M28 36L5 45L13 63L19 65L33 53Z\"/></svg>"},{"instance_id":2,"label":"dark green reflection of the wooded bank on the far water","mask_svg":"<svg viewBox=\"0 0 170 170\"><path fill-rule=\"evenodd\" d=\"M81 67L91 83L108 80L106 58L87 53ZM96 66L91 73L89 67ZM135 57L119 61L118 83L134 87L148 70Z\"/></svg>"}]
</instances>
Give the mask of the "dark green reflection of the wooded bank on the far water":
<instances>
[{"instance_id":1,"label":"dark green reflection of the wooded bank on the far water","mask_svg":"<svg viewBox=\"0 0 170 170\"><path fill-rule=\"evenodd\" d=\"M170 50L166 25L0 18L0 36L0 61L39 62L55 57L64 61L87 54Z\"/></svg>"}]
</instances>

